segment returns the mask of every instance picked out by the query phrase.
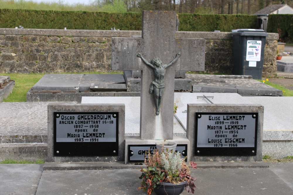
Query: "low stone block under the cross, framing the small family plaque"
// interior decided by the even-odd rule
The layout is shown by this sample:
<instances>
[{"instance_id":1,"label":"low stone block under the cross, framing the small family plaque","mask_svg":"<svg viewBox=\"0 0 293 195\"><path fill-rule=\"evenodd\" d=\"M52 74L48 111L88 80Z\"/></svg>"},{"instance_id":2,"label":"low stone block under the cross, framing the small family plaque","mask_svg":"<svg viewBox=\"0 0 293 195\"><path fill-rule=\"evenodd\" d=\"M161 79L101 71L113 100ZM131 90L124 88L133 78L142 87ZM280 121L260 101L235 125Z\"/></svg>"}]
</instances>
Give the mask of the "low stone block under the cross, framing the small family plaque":
<instances>
[{"instance_id":1,"label":"low stone block under the cross, framing the small family plaque","mask_svg":"<svg viewBox=\"0 0 293 195\"><path fill-rule=\"evenodd\" d=\"M163 141L163 140L142 140L139 136L125 136L125 164L129 163L129 145L156 145L156 142ZM178 144L185 144L187 145L187 161L186 163L189 163L190 160L190 141L185 136L174 136L173 139L166 140L166 141L172 141ZM143 154L140 154L143 155ZM143 155L144 156L144 155Z\"/></svg>"}]
</instances>

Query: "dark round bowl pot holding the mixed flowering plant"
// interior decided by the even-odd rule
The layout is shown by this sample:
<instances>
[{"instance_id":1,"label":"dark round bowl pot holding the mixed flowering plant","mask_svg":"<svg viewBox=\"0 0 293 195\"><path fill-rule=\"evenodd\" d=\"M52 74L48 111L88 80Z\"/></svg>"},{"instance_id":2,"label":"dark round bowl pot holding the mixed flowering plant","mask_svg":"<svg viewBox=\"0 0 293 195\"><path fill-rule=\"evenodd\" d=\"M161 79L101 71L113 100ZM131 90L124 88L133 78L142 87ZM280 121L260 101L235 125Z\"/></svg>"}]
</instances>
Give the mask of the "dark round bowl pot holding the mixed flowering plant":
<instances>
[{"instance_id":1,"label":"dark round bowl pot holding the mixed flowering plant","mask_svg":"<svg viewBox=\"0 0 293 195\"><path fill-rule=\"evenodd\" d=\"M183 192L187 181L179 184L161 182L156 185L154 191L158 195L179 195Z\"/></svg>"}]
</instances>

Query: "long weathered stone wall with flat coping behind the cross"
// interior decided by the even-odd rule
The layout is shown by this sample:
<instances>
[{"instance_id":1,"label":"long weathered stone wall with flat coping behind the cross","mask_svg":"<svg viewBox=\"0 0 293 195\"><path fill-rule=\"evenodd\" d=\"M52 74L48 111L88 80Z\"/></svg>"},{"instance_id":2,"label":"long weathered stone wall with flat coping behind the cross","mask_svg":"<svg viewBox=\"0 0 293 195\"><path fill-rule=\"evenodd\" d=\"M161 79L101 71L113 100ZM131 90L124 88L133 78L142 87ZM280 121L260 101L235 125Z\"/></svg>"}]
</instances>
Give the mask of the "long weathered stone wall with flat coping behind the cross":
<instances>
[{"instance_id":1,"label":"long weathered stone wall with flat coping behind the cross","mask_svg":"<svg viewBox=\"0 0 293 195\"><path fill-rule=\"evenodd\" d=\"M111 71L111 37L141 31L0 29L0 73ZM277 72L277 33L268 33L264 76ZM205 71L231 74L230 32L177 32L180 38L206 39Z\"/></svg>"}]
</instances>

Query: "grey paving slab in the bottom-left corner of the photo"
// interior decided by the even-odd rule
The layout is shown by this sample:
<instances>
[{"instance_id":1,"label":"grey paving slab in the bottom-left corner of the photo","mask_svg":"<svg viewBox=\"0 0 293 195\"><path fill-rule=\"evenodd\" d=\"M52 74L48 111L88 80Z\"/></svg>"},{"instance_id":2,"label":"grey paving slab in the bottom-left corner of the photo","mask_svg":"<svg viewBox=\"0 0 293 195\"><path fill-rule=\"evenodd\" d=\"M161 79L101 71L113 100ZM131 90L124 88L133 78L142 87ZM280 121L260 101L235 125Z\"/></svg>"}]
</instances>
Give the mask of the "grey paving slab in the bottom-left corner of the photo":
<instances>
[{"instance_id":1,"label":"grey paving slab in the bottom-left corner of the photo","mask_svg":"<svg viewBox=\"0 0 293 195\"><path fill-rule=\"evenodd\" d=\"M0 194L35 195L43 164L0 164Z\"/></svg>"}]
</instances>

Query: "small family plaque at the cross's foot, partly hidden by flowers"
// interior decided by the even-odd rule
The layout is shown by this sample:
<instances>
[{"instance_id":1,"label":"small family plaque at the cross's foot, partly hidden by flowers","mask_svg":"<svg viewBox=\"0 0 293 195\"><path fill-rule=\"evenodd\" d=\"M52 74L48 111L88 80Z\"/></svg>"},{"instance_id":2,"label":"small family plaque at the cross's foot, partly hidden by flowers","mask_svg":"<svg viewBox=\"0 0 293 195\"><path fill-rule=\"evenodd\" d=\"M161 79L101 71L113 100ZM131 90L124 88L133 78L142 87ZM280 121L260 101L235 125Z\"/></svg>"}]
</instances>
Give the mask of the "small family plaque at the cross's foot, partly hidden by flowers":
<instances>
[{"instance_id":1,"label":"small family plaque at the cross's foot, partly hidden by flowers","mask_svg":"<svg viewBox=\"0 0 293 195\"><path fill-rule=\"evenodd\" d=\"M149 150L153 154L156 150L156 144L128 145L128 162L144 162L145 153L149 153ZM187 144L177 144L176 152L180 152L181 158L185 158L187 156Z\"/></svg>"}]
</instances>

